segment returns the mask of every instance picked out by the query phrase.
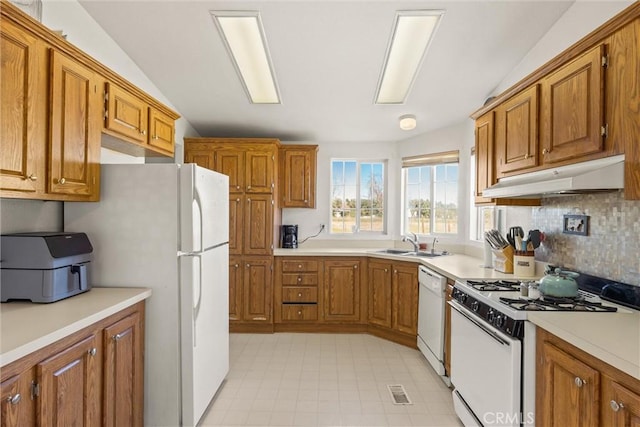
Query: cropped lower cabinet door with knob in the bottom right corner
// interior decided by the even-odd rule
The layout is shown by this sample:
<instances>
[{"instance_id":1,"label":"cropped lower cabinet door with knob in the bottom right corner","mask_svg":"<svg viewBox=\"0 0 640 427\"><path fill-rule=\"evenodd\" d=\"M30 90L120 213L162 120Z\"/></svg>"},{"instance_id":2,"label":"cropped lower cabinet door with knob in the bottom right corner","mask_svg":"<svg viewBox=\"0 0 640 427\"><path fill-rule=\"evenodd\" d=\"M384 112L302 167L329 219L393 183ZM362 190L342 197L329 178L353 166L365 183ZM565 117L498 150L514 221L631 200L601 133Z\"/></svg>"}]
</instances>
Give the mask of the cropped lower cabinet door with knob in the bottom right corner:
<instances>
[{"instance_id":1,"label":"cropped lower cabinet door with knob in the bottom right corner","mask_svg":"<svg viewBox=\"0 0 640 427\"><path fill-rule=\"evenodd\" d=\"M640 390L632 391L611 378L606 378L603 394L603 425L640 426Z\"/></svg>"}]
</instances>

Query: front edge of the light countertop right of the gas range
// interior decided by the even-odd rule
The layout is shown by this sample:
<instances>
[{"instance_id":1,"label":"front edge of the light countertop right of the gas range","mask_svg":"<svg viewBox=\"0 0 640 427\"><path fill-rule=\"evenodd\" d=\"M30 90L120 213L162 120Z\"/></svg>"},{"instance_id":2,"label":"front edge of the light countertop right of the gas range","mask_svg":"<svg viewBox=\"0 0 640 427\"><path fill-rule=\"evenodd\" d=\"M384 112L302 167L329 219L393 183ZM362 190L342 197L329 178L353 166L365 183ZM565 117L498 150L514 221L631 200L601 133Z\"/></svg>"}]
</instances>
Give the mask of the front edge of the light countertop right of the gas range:
<instances>
[{"instance_id":1,"label":"front edge of the light countertop right of the gas range","mask_svg":"<svg viewBox=\"0 0 640 427\"><path fill-rule=\"evenodd\" d=\"M574 345L575 347L583 350L591 356L600 359L601 361L613 366L614 368L619 369L622 372L640 380L639 364L634 364L629 360L623 359L616 354L611 353L607 349L598 346L593 342L587 341L586 338L571 333L570 331L562 328L562 326L558 325L556 322L546 319L544 317L544 314L536 314L530 315L528 319L534 325L539 326L540 328L552 333L558 338L563 339L569 344Z\"/></svg>"}]
</instances>

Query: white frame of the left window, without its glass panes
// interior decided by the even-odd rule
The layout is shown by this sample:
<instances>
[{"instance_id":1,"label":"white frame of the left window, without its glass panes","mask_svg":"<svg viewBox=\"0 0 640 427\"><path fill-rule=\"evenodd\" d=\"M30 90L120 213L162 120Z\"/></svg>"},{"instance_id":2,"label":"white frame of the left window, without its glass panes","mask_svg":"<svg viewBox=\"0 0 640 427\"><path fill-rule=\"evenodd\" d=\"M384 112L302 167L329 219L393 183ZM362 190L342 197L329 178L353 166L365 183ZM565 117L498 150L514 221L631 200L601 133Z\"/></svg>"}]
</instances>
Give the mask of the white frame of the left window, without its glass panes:
<instances>
[{"instance_id":1,"label":"white frame of the left window, without its glass panes","mask_svg":"<svg viewBox=\"0 0 640 427\"><path fill-rule=\"evenodd\" d=\"M333 231L333 164L334 162L355 162L356 163L356 212L355 212L355 230L348 232L337 233ZM362 230L360 228L360 216L362 209L362 200L361 200L361 182L360 182L360 174L361 174L361 165L363 163L379 163L382 165L382 230L374 231L374 230ZM388 234L388 217L389 217L389 208L388 208L388 186L389 186L389 166L387 159L363 159L363 158L354 158L354 157L336 157L331 158L329 160L329 235L332 236L355 236L355 235L370 235L370 236L382 236Z\"/></svg>"}]
</instances>

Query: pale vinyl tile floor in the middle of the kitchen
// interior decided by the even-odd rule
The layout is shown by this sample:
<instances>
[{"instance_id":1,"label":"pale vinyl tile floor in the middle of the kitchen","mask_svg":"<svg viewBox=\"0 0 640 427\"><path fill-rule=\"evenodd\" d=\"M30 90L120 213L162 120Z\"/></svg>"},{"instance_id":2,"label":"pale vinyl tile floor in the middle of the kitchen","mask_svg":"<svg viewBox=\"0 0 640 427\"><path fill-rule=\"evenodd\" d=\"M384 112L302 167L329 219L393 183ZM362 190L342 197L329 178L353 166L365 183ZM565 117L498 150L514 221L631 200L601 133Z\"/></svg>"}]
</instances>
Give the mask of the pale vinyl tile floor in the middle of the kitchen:
<instances>
[{"instance_id":1,"label":"pale vinyl tile floor in the middle of the kitchen","mask_svg":"<svg viewBox=\"0 0 640 427\"><path fill-rule=\"evenodd\" d=\"M230 365L200 426L462 425L419 351L371 335L231 334Z\"/></svg>"}]
</instances>

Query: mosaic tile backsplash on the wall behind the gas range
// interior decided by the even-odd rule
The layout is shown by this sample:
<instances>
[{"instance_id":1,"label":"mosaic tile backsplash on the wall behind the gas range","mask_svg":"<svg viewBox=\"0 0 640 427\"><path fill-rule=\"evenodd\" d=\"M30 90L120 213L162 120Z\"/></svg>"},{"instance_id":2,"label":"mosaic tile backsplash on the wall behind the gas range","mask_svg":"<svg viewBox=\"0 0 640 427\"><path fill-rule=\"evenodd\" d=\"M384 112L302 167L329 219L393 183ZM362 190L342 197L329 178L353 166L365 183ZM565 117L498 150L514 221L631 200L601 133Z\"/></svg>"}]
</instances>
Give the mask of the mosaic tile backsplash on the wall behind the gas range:
<instances>
[{"instance_id":1,"label":"mosaic tile backsplash on the wall behind the gas range","mask_svg":"<svg viewBox=\"0 0 640 427\"><path fill-rule=\"evenodd\" d=\"M565 214L588 215L589 234L563 234ZM549 197L532 208L532 224L546 235L539 261L640 286L640 201L622 191Z\"/></svg>"}]
</instances>

